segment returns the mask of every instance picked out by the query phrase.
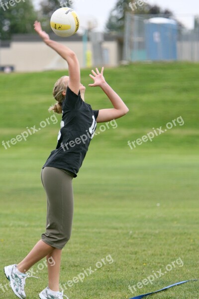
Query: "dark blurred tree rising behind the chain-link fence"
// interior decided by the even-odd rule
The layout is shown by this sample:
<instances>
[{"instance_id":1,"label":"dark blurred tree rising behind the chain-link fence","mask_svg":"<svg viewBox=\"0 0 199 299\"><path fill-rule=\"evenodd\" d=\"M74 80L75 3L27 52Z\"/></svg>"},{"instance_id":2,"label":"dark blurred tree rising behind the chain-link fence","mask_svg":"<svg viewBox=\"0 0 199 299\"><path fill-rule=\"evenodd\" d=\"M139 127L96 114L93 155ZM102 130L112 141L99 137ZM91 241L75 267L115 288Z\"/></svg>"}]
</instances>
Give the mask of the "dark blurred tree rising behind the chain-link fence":
<instances>
[{"instance_id":1,"label":"dark blurred tree rising behind the chain-link fence","mask_svg":"<svg viewBox=\"0 0 199 299\"><path fill-rule=\"evenodd\" d=\"M144 1L141 4L139 5L138 1L117 0L106 22L106 31L122 33L126 12L134 14L161 14L166 17L173 16L173 13L169 9L162 10L158 5L150 5Z\"/></svg>"}]
</instances>

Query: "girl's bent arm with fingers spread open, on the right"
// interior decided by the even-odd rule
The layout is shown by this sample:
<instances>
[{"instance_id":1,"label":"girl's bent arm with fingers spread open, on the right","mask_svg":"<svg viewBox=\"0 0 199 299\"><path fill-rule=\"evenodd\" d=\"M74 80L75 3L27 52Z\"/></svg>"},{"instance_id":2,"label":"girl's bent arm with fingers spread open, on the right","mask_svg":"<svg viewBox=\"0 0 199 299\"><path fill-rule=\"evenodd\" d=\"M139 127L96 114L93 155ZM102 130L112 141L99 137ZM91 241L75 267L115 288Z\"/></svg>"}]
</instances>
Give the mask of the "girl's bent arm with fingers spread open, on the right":
<instances>
[{"instance_id":1,"label":"girl's bent arm with fingers spread open, on the right","mask_svg":"<svg viewBox=\"0 0 199 299\"><path fill-rule=\"evenodd\" d=\"M124 104L122 99L116 92L107 84L103 77L103 67L101 72L96 68L96 72L92 70L93 75L90 77L94 80L94 84L89 84L91 87L99 86L106 96L109 98L114 108L100 109L97 117L97 123L108 122L113 119L118 119L128 113L128 107Z\"/></svg>"}]
</instances>

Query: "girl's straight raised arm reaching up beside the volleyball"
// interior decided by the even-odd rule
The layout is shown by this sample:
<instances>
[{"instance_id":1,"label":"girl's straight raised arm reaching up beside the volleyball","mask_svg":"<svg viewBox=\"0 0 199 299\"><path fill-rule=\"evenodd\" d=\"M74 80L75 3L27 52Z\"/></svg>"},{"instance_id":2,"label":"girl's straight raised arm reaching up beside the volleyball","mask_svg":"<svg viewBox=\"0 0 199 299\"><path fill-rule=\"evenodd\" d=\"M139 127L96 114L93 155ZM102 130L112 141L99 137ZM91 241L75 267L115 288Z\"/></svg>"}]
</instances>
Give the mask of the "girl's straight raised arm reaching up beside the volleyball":
<instances>
[{"instance_id":1,"label":"girl's straight raised arm reaching up beside the volleyball","mask_svg":"<svg viewBox=\"0 0 199 299\"><path fill-rule=\"evenodd\" d=\"M34 22L34 29L49 47L55 50L67 61L69 67L69 88L78 95L80 90L80 64L75 52L64 45L51 40L49 35L42 30L40 22Z\"/></svg>"}]
</instances>

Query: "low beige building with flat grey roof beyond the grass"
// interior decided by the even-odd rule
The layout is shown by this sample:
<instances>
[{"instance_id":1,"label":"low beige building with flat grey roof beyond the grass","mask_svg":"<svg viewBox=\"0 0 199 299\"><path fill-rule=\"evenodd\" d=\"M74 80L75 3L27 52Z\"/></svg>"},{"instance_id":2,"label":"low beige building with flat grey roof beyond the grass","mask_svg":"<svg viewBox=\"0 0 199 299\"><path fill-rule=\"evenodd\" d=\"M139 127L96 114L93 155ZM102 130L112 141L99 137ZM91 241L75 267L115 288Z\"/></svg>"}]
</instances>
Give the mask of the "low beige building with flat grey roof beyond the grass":
<instances>
[{"instance_id":1,"label":"low beige building with flat grey roof beyond the grass","mask_svg":"<svg viewBox=\"0 0 199 299\"><path fill-rule=\"evenodd\" d=\"M115 35L97 33L96 36L97 38L92 39L94 43L90 40L83 42L83 36L78 34L65 39L52 34L50 38L71 48L77 54L81 68L97 66L96 61L101 61L100 64L105 66L117 66L122 57L121 41ZM98 42L99 46L95 42ZM98 56L101 56L100 60L96 60ZM16 34L12 36L10 42L1 41L0 66L1 69L11 66L16 72L61 70L68 67L67 63L44 44L37 34Z\"/></svg>"}]
</instances>

